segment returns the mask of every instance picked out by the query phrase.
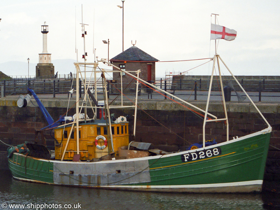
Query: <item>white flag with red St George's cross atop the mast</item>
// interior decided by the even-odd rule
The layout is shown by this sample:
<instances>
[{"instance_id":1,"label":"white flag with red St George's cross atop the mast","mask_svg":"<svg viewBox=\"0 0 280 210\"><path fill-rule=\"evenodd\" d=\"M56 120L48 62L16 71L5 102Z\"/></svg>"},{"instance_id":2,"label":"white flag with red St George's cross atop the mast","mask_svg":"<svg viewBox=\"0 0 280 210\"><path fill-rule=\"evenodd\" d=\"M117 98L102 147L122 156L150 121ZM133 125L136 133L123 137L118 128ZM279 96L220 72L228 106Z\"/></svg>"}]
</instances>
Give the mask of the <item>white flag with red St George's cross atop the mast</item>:
<instances>
[{"instance_id":1,"label":"white flag with red St George's cross atop the mast","mask_svg":"<svg viewBox=\"0 0 280 210\"><path fill-rule=\"evenodd\" d=\"M211 40L224 39L227 41L234 40L236 38L236 30L211 24Z\"/></svg>"}]
</instances>

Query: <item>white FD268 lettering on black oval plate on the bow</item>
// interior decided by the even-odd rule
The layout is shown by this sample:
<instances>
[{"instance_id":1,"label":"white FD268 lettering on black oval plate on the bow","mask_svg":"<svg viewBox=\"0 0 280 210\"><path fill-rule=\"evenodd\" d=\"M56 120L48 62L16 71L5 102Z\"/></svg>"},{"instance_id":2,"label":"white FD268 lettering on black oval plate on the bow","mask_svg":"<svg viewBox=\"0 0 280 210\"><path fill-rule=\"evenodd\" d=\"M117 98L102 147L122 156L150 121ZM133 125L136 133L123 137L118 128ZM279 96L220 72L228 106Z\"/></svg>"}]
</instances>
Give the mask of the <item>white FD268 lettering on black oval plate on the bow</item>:
<instances>
[{"instance_id":1,"label":"white FD268 lettering on black oval plate on the bow","mask_svg":"<svg viewBox=\"0 0 280 210\"><path fill-rule=\"evenodd\" d=\"M199 160L199 159L203 159L203 158L207 158L207 157L213 157L213 156L217 156L217 155L221 155L221 154L222 154L221 148L215 147L215 148L211 148L211 149L207 149L207 150L204 149L203 151L186 153L184 155L181 155L181 160L183 162L194 161L194 160Z\"/></svg>"}]
</instances>

